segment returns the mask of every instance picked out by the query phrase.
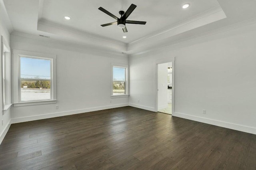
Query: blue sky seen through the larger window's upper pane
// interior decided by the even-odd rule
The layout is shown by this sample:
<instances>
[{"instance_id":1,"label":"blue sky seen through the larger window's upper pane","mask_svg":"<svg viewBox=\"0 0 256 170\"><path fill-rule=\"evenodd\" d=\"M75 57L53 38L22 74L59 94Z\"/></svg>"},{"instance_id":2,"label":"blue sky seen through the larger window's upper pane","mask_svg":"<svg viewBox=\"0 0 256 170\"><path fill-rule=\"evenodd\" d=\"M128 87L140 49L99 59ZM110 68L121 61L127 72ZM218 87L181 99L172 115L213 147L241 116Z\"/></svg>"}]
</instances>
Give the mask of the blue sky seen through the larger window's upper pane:
<instances>
[{"instance_id":1,"label":"blue sky seen through the larger window's upper pane","mask_svg":"<svg viewBox=\"0 0 256 170\"><path fill-rule=\"evenodd\" d=\"M20 57L20 77L50 79L51 61L46 59L35 59Z\"/></svg>"}]
</instances>

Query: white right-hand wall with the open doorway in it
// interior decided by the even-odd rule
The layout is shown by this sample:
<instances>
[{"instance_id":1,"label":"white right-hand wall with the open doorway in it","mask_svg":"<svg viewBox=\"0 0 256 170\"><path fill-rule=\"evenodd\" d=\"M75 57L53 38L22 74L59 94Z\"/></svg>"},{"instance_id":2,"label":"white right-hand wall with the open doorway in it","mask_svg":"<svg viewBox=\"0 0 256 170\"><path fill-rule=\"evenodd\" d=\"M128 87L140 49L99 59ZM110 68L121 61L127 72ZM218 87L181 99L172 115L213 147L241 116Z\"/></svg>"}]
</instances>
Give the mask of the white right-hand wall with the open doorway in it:
<instances>
[{"instance_id":1,"label":"white right-hand wall with the open doorway in it","mask_svg":"<svg viewBox=\"0 0 256 170\"><path fill-rule=\"evenodd\" d=\"M130 105L155 109L154 63L175 56L174 116L256 134L255 42L252 24L130 56Z\"/></svg>"}]
</instances>

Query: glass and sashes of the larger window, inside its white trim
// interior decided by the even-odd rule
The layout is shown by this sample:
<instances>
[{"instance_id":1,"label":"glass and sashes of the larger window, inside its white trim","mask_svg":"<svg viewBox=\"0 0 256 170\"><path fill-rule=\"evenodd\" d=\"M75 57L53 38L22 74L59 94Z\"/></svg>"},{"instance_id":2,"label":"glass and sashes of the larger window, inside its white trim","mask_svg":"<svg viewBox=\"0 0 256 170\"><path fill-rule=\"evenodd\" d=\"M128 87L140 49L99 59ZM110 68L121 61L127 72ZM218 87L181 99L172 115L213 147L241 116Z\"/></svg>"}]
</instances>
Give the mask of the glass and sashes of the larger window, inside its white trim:
<instances>
[{"instance_id":1,"label":"glass and sashes of the larger window, inside its white trim","mask_svg":"<svg viewBox=\"0 0 256 170\"><path fill-rule=\"evenodd\" d=\"M20 55L20 101L52 99L52 59Z\"/></svg>"}]
</instances>

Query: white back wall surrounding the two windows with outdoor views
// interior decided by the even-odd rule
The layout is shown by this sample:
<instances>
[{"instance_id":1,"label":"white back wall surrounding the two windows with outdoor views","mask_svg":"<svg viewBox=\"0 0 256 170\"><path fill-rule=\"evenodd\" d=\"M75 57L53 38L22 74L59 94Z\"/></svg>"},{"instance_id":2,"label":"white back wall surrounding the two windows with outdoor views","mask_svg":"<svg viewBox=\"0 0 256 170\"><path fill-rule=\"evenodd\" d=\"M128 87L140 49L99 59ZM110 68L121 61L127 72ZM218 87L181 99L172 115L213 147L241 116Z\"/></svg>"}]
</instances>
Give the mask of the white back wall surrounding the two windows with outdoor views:
<instances>
[{"instance_id":1,"label":"white back wall surrounding the two windows with outdoor views","mask_svg":"<svg viewBox=\"0 0 256 170\"><path fill-rule=\"evenodd\" d=\"M128 64L128 57L92 51L36 36L11 35L12 49L56 54L57 102L12 107L12 123L128 105L128 97L111 99L111 63ZM12 65L17 67L17 65ZM110 103L112 100L112 103ZM55 109L58 105L59 109Z\"/></svg>"}]
</instances>

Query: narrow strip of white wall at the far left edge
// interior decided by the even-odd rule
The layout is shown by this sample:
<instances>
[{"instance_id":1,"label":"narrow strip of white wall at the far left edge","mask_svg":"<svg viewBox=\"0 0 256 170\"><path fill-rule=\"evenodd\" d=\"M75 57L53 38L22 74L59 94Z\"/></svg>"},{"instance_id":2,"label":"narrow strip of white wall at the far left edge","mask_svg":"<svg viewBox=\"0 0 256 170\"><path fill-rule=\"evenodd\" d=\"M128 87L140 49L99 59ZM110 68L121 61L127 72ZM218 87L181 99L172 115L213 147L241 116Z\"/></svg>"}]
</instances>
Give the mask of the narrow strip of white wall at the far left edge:
<instances>
[{"instance_id":1,"label":"narrow strip of white wall at the far left edge","mask_svg":"<svg viewBox=\"0 0 256 170\"><path fill-rule=\"evenodd\" d=\"M3 36L5 41L10 45L10 33L7 29L7 27L4 24L4 18L3 18L3 10L2 10L2 4L0 3L0 36ZM2 47L0 45L0 51L2 51ZM1 53L1 52L0 52ZM2 54L1 54L2 55ZM2 58L0 56L0 58ZM0 73L2 70L2 59L0 59ZM2 112L2 73L0 74L0 143L2 142L4 135L6 134L8 128L10 127L9 123L11 120L11 114L10 109L7 111ZM2 125L2 120L4 121L4 124Z\"/></svg>"}]
</instances>

